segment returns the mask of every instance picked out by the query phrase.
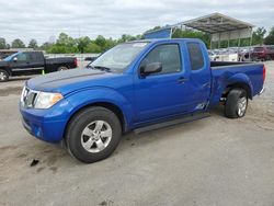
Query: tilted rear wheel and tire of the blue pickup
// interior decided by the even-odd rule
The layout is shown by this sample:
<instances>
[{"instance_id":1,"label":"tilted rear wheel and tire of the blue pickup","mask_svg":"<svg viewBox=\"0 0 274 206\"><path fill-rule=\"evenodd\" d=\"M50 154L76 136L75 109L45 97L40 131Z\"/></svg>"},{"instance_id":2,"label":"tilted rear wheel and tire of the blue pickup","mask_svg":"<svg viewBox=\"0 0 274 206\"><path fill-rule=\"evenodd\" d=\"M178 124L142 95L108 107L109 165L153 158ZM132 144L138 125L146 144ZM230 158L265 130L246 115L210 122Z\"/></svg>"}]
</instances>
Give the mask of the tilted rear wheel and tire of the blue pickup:
<instances>
[{"instance_id":1,"label":"tilted rear wheel and tire of the blue pickup","mask_svg":"<svg viewBox=\"0 0 274 206\"><path fill-rule=\"evenodd\" d=\"M243 89L232 89L227 96L225 116L228 118L241 118L248 108L248 94Z\"/></svg>"}]
</instances>

